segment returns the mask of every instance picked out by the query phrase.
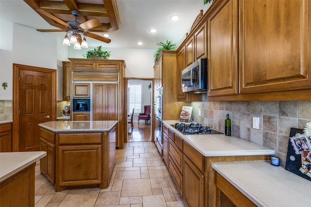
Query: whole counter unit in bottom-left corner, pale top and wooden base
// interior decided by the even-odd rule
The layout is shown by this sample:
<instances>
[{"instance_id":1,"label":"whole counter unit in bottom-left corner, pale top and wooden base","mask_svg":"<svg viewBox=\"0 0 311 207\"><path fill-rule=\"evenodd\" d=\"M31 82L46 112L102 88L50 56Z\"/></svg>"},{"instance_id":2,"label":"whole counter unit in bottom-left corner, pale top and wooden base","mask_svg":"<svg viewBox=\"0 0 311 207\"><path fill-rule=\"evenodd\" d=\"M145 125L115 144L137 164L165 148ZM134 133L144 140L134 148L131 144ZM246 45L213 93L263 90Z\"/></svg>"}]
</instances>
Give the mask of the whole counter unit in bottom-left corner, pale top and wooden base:
<instances>
[{"instance_id":1,"label":"whole counter unit in bottom-left corner, pale top and wooden base","mask_svg":"<svg viewBox=\"0 0 311 207\"><path fill-rule=\"evenodd\" d=\"M35 206L35 162L46 152L0 153L0 207Z\"/></svg>"}]
</instances>

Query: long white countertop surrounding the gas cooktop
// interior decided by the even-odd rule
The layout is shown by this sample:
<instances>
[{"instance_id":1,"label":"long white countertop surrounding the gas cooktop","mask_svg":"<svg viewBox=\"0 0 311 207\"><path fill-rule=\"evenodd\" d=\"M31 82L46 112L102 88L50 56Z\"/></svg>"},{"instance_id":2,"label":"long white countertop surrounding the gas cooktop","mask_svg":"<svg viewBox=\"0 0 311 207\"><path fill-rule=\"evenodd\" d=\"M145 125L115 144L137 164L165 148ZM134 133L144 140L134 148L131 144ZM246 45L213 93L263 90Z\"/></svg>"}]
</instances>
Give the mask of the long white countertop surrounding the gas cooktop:
<instances>
[{"instance_id":1,"label":"long white countertop surrounding the gas cooktop","mask_svg":"<svg viewBox=\"0 0 311 207\"><path fill-rule=\"evenodd\" d=\"M268 147L225 134L184 135L175 127L175 120L165 120L163 124L178 134L183 140L198 150L203 156L241 156L274 155L276 152ZM189 123L188 123L189 124Z\"/></svg>"}]
</instances>

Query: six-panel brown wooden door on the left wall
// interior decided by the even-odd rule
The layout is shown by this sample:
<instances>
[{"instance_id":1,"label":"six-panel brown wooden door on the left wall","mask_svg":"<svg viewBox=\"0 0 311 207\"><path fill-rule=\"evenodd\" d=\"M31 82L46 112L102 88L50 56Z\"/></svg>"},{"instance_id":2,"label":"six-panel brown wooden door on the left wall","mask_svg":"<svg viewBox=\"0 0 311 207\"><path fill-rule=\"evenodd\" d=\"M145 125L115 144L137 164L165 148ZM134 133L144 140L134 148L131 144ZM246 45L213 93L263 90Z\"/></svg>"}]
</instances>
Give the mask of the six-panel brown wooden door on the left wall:
<instances>
[{"instance_id":1,"label":"six-panel brown wooden door on the left wall","mask_svg":"<svg viewBox=\"0 0 311 207\"><path fill-rule=\"evenodd\" d=\"M21 69L19 77L19 151L39 151L38 124L52 117L52 74Z\"/></svg>"}]
</instances>

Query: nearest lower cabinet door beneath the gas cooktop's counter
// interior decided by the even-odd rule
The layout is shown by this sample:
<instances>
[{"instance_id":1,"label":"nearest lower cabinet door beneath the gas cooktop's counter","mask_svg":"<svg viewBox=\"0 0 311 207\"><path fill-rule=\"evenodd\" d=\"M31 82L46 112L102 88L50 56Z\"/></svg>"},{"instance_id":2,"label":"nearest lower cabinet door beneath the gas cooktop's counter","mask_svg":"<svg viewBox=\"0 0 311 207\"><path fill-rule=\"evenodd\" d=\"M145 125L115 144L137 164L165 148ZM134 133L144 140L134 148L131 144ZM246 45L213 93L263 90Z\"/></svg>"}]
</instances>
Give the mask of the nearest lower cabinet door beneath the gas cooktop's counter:
<instances>
[{"instance_id":1,"label":"nearest lower cabinet door beneath the gas cooktop's counter","mask_svg":"<svg viewBox=\"0 0 311 207\"><path fill-rule=\"evenodd\" d=\"M189 207L203 207L204 176L184 156L184 201Z\"/></svg>"}]
</instances>

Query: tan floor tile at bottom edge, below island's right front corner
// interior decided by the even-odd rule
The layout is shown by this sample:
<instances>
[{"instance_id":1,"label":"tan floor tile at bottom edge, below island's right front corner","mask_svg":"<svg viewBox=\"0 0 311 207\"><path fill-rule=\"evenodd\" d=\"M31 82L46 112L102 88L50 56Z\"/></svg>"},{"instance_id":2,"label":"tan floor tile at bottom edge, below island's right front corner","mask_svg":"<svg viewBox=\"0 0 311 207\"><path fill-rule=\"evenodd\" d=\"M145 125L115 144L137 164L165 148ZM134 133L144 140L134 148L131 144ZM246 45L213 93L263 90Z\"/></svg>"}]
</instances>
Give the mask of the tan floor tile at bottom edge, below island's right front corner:
<instances>
[{"instance_id":1,"label":"tan floor tile at bottom edge, below island's right front corner","mask_svg":"<svg viewBox=\"0 0 311 207\"><path fill-rule=\"evenodd\" d=\"M94 207L118 206L121 191L100 192Z\"/></svg>"}]
</instances>

